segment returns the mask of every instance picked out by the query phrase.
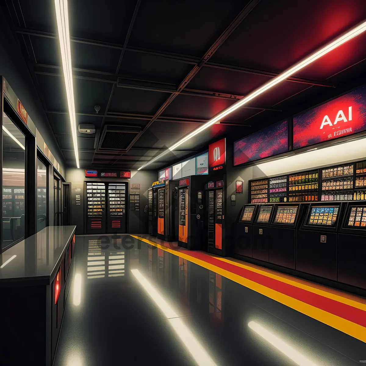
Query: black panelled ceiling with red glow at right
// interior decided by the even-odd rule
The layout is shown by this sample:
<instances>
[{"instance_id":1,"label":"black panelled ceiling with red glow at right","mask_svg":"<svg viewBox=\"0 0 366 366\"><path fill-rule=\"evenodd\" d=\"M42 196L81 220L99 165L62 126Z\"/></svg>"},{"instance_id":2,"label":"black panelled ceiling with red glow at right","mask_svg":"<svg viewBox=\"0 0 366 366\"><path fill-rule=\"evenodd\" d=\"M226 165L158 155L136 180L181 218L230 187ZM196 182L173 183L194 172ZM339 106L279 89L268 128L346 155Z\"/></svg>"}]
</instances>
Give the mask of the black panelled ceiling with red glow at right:
<instances>
[{"instance_id":1,"label":"black panelled ceiling with red glow at right","mask_svg":"<svg viewBox=\"0 0 366 366\"><path fill-rule=\"evenodd\" d=\"M18 36L66 163L75 166L54 2L1 0L1 7ZM85 168L140 167L366 19L365 0L80 0L68 1L68 8L77 123L101 131L97 150L95 134L78 132ZM244 137L364 83L365 41L364 33L347 42L149 168L200 152L221 136ZM98 115L95 105L101 107ZM122 131L133 126L139 132L134 139L127 132L108 138L109 145L123 147L116 150L107 141L113 126Z\"/></svg>"}]
</instances>

